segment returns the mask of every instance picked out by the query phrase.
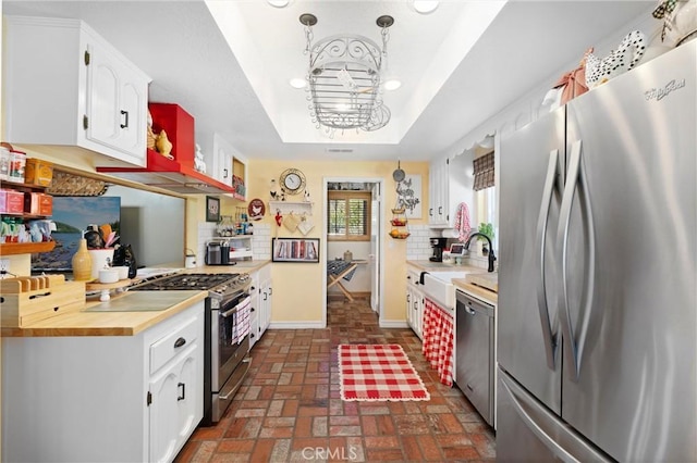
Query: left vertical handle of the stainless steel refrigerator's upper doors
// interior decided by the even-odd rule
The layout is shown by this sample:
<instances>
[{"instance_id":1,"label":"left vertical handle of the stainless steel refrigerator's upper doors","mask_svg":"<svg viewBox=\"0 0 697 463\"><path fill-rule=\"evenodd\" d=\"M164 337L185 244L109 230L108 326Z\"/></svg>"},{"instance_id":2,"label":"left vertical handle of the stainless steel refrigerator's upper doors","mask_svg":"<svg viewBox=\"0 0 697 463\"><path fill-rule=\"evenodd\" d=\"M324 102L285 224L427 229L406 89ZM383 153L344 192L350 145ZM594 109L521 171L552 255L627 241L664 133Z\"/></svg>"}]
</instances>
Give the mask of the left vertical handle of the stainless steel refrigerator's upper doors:
<instances>
[{"instance_id":1,"label":"left vertical handle of the stainless steel refrigerator's upper doors","mask_svg":"<svg viewBox=\"0 0 697 463\"><path fill-rule=\"evenodd\" d=\"M547 225L549 222L549 209L554 193L554 185L557 183L559 162L559 150L552 150L549 153L549 163L547 165L547 176L545 178L545 187L542 188L542 203L540 204L540 213L537 218L537 232L535 249L537 250L537 308L540 314L540 325L542 327L542 339L545 341L545 354L547 356L547 366L554 370L554 350L557 342L552 334L552 327L549 320L549 304L547 303L547 289L545 280L545 242L547 237Z\"/></svg>"}]
</instances>

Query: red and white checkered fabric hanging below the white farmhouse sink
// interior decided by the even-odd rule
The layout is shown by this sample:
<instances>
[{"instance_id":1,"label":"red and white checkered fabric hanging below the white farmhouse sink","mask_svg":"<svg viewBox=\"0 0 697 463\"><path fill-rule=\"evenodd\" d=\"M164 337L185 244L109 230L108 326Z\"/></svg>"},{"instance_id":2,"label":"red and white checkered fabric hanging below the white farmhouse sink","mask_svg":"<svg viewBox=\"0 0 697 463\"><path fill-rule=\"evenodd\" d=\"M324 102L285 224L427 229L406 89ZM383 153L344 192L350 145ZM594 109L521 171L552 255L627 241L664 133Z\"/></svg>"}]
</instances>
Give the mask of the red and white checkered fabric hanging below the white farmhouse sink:
<instances>
[{"instance_id":1,"label":"red and white checkered fabric hanging below the white farmhouse sink","mask_svg":"<svg viewBox=\"0 0 697 463\"><path fill-rule=\"evenodd\" d=\"M452 315L426 298L424 311L424 345L421 351L431 368L437 368L440 381L453 385L454 322Z\"/></svg>"}]
</instances>

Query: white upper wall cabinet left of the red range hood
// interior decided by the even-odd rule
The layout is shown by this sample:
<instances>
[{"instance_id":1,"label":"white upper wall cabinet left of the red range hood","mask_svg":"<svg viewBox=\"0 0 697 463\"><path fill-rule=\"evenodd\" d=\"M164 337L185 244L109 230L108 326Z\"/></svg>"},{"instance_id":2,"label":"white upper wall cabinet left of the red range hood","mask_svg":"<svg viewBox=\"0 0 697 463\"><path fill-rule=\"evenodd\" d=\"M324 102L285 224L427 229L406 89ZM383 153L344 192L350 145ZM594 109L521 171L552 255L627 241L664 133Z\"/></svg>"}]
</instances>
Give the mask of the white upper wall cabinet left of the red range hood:
<instances>
[{"instance_id":1,"label":"white upper wall cabinet left of the red range hood","mask_svg":"<svg viewBox=\"0 0 697 463\"><path fill-rule=\"evenodd\" d=\"M145 166L150 78L82 21L5 18L3 139Z\"/></svg>"}]
</instances>

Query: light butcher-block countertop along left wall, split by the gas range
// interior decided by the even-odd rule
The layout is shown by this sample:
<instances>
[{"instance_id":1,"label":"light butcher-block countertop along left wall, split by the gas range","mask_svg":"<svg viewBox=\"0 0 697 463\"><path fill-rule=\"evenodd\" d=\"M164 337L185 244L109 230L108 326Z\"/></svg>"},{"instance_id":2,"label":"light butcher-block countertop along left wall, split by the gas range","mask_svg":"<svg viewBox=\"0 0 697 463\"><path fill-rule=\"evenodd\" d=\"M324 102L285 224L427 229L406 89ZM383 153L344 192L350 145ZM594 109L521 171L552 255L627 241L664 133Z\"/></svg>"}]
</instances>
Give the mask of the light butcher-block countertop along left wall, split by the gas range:
<instances>
[{"instance_id":1,"label":"light butcher-block countertop along left wall, split by the gas range","mask_svg":"<svg viewBox=\"0 0 697 463\"><path fill-rule=\"evenodd\" d=\"M183 273L253 273L270 261L243 261L236 265L205 265ZM108 302L88 299L80 311L64 313L22 328L0 329L7 337L50 336L134 336L192 304L203 301L207 291L125 291L113 293Z\"/></svg>"}]
</instances>

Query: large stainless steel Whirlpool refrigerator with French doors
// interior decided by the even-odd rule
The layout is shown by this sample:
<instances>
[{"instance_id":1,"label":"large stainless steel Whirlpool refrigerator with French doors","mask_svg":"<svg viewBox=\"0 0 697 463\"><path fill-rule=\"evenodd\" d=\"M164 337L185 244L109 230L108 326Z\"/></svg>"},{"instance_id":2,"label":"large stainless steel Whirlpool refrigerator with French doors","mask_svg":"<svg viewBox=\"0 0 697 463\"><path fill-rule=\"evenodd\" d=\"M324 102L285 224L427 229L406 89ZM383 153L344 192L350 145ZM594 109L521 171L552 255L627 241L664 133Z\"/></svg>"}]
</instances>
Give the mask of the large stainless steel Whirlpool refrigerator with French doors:
<instances>
[{"instance_id":1,"label":"large stainless steel Whirlpool refrigerator with French doors","mask_svg":"<svg viewBox=\"0 0 697 463\"><path fill-rule=\"evenodd\" d=\"M500 461L697 461L696 57L501 140Z\"/></svg>"}]
</instances>

